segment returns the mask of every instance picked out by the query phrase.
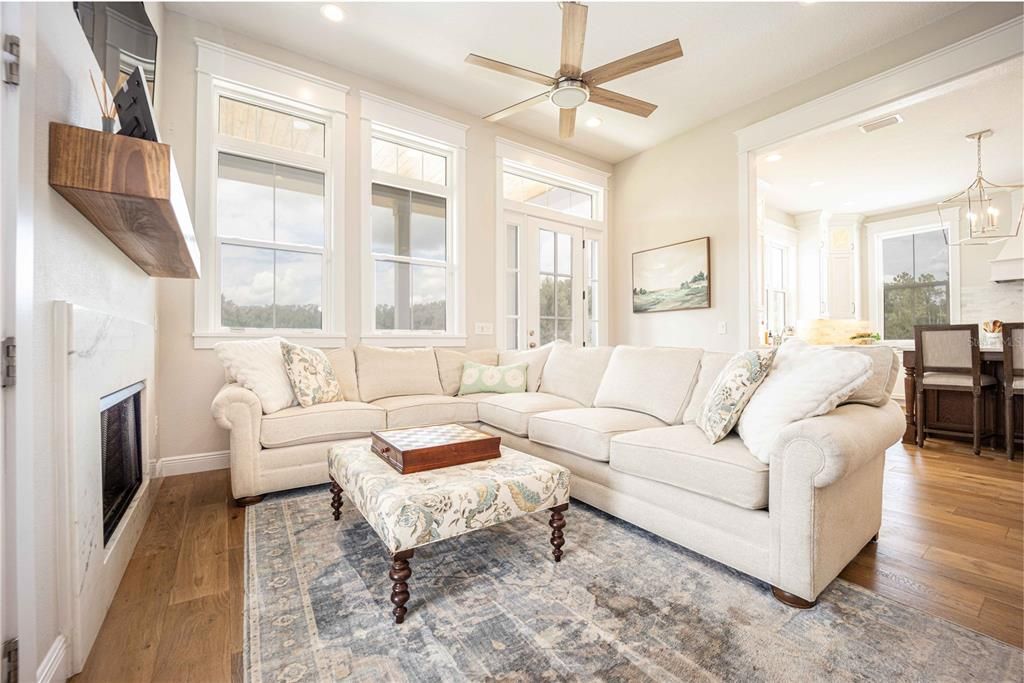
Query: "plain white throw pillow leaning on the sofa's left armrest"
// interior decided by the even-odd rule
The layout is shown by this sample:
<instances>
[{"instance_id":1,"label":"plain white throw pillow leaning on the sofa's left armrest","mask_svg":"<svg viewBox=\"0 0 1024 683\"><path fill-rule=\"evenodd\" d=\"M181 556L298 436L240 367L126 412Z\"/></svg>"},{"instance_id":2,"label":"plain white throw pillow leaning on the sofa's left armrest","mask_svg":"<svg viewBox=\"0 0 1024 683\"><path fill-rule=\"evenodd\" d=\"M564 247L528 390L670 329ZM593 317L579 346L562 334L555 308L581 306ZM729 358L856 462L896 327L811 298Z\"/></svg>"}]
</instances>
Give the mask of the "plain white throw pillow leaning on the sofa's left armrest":
<instances>
[{"instance_id":1,"label":"plain white throw pillow leaning on the sofa's left armrest","mask_svg":"<svg viewBox=\"0 0 1024 683\"><path fill-rule=\"evenodd\" d=\"M270 337L213 345L228 377L255 393L265 414L296 404L281 352L283 341L282 337Z\"/></svg>"}]
</instances>

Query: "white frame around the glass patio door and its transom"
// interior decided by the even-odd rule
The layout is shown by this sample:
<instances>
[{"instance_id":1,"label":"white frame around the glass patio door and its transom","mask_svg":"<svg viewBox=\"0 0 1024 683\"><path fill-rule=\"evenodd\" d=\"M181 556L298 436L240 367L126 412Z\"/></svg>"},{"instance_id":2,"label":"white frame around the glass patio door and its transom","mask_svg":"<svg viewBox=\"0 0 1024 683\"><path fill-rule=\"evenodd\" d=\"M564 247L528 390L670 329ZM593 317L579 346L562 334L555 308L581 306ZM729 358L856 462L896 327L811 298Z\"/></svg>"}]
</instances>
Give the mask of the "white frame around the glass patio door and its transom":
<instances>
[{"instance_id":1,"label":"white frame around the glass patio door and its transom","mask_svg":"<svg viewBox=\"0 0 1024 683\"><path fill-rule=\"evenodd\" d=\"M509 342L507 340L507 326L506 321L511 316L508 311L508 306L506 305L508 287L507 287L507 245L508 241L506 239L507 225L510 222L509 217L511 214L517 214L521 216L521 222L519 225L519 278L517 280L519 286L518 293L518 307L519 307L519 319L520 323L524 321L524 311L526 310L526 293L522 290L524 279L523 264L528 262L524 261L526 256L525 252L525 230L526 230L526 218L541 218L544 220L556 221L559 223L565 223L569 225L578 225L583 228L584 241L585 243L598 242L601 246L598 250L598 267L599 271L597 273L597 280L599 289L598 296L598 310L597 310L597 323L598 323L598 342L599 344L607 345L608 343L608 178L611 176L610 173L601 171L590 166L585 166L583 164L578 164L575 162L557 157L555 155L542 152L540 150L535 150L528 147L518 142L513 142L505 138L497 138L496 140L496 167L495 167L495 195L496 195L496 240L495 240L495 272L496 276L496 319L500 322L495 329L495 343L500 349L509 348ZM574 216L569 213L562 211L556 211L554 209L549 209L547 207L535 206L532 204L526 204L525 202L517 202L514 200L506 200L504 193L504 178L505 172L515 173L526 178L531 178L540 180L542 182L549 182L554 185L559 185L561 187L567 187L569 189L574 189L577 191L583 191L591 195L593 198L593 218L584 218L582 216ZM586 289L587 283L590 282L591 276L589 272L589 259L584 259L584 271L581 273L584 278L583 286ZM589 325L590 321L586 318L586 306L582 308L584 314L584 326ZM526 330L525 325L519 325L519 339L517 340L518 348L525 349L526 346ZM586 338L586 327L584 328Z\"/></svg>"}]
</instances>

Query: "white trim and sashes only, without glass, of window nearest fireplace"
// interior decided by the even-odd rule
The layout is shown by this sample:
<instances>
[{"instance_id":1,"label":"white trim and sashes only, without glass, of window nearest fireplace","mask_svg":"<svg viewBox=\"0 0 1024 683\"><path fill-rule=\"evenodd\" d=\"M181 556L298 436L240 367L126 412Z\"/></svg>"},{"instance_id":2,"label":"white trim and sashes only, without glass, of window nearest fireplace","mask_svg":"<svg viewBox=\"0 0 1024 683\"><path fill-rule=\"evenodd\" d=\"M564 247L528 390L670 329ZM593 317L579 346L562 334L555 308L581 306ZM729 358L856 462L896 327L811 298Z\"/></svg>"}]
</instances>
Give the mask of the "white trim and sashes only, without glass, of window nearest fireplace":
<instances>
[{"instance_id":1,"label":"white trim and sashes only, without glass, of window nearest fireplace","mask_svg":"<svg viewBox=\"0 0 1024 683\"><path fill-rule=\"evenodd\" d=\"M212 348L219 341L289 337L322 347L345 345L344 199L345 99L348 88L289 67L201 39L196 92L196 232L205 273L196 286L193 343ZM219 133L221 96L298 116L324 125L325 156L271 147ZM220 244L216 230L216 183L220 153L295 166L324 173L324 248L288 245L287 249L323 253L322 330L231 330L220 324ZM246 246L246 240L231 238ZM255 242L249 246L266 246Z\"/></svg>"}]
</instances>

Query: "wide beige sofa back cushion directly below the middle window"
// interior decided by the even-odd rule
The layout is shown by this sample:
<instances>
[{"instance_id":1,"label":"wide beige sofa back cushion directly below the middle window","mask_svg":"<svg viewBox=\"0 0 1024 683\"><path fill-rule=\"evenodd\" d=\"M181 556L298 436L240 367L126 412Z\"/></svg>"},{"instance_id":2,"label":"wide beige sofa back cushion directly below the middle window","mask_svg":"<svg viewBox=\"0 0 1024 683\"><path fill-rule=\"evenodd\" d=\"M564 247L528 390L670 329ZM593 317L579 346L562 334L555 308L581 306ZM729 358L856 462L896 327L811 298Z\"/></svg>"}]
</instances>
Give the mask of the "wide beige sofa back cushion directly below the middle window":
<instances>
[{"instance_id":1,"label":"wide beige sofa back cushion directly below the middle window","mask_svg":"<svg viewBox=\"0 0 1024 683\"><path fill-rule=\"evenodd\" d=\"M366 402L388 396L444 393L432 348L355 347L359 397Z\"/></svg>"}]
</instances>

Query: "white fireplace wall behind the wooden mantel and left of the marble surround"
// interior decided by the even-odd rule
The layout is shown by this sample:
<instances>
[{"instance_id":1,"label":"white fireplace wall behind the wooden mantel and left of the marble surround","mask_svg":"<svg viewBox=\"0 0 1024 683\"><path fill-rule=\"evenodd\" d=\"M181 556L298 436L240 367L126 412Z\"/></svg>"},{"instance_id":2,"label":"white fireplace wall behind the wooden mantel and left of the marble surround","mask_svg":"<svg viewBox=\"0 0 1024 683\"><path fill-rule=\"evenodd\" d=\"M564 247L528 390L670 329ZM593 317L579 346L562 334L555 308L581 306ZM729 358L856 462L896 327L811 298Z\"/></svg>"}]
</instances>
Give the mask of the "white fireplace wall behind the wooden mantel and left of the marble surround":
<instances>
[{"instance_id":1,"label":"white fireplace wall behind the wooden mantel and left of the marble surround","mask_svg":"<svg viewBox=\"0 0 1024 683\"><path fill-rule=\"evenodd\" d=\"M34 348L31 373L35 392L33 478L35 487L35 584L37 615L35 633L20 633L34 639L27 648L36 656L23 658L23 676L31 680L40 659L61 632L57 611L57 463L63 457L58 435L62 426L54 424L54 330L53 301L68 300L100 311L153 324L156 318L156 284L132 263L98 229L47 182L48 124L56 121L87 128L100 127L99 108L89 84L90 70L98 73L85 36L71 3L36 5L36 67L23 71L31 79L22 90L33 101L23 101L31 112L35 248L33 257ZM31 55L28 57L31 59ZM24 86L23 86L24 87ZM148 352L155 358L156 350ZM152 414L153 405L148 407ZM145 423L144 423L145 424ZM144 438L154 446L152 433ZM153 453L151 449L151 453ZM34 659L34 660L33 660Z\"/></svg>"}]
</instances>

